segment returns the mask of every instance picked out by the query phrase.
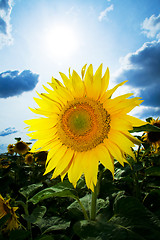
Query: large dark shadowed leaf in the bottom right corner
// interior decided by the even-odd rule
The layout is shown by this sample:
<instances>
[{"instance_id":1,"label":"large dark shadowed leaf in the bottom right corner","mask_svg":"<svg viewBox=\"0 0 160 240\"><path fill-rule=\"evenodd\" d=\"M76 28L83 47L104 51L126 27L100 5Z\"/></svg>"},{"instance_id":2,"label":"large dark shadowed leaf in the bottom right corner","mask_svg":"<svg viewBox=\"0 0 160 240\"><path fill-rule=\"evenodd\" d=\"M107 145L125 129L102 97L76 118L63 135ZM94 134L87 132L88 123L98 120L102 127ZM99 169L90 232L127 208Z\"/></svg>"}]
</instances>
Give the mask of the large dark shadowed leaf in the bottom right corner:
<instances>
[{"instance_id":1,"label":"large dark shadowed leaf in the bottom right corner","mask_svg":"<svg viewBox=\"0 0 160 240\"><path fill-rule=\"evenodd\" d=\"M123 225L146 240L160 236L160 220L134 197L119 195L114 203L114 217L110 223Z\"/></svg>"}]
</instances>

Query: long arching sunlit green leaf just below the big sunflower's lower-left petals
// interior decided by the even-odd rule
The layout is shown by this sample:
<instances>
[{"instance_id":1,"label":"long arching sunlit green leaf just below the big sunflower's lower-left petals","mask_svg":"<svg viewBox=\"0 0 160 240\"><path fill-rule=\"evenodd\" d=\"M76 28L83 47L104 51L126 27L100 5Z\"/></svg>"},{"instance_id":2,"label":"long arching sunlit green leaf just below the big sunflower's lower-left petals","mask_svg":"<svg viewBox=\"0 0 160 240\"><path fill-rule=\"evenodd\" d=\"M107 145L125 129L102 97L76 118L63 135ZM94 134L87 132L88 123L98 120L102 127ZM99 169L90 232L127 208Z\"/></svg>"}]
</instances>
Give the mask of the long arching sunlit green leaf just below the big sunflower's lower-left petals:
<instances>
[{"instance_id":1,"label":"long arching sunlit green leaf just below the big sunflower's lower-left petals","mask_svg":"<svg viewBox=\"0 0 160 240\"><path fill-rule=\"evenodd\" d=\"M39 201L52 197L70 197L73 199L79 199L72 184L68 181L64 181L38 192L29 200L29 202L37 204Z\"/></svg>"}]
</instances>

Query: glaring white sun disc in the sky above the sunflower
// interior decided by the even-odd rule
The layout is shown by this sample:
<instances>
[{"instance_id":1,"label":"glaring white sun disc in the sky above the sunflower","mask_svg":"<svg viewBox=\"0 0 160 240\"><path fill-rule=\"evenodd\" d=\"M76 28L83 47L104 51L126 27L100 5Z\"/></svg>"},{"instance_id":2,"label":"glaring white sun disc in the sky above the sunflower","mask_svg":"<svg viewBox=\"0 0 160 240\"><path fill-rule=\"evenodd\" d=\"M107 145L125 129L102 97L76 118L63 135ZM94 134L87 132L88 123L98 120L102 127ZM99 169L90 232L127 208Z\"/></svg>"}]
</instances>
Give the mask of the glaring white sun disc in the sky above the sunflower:
<instances>
[{"instance_id":1,"label":"glaring white sun disc in the sky above the sunflower","mask_svg":"<svg viewBox=\"0 0 160 240\"><path fill-rule=\"evenodd\" d=\"M72 56L78 47L76 31L67 24L56 24L44 35L46 54L55 58Z\"/></svg>"}]
</instances>

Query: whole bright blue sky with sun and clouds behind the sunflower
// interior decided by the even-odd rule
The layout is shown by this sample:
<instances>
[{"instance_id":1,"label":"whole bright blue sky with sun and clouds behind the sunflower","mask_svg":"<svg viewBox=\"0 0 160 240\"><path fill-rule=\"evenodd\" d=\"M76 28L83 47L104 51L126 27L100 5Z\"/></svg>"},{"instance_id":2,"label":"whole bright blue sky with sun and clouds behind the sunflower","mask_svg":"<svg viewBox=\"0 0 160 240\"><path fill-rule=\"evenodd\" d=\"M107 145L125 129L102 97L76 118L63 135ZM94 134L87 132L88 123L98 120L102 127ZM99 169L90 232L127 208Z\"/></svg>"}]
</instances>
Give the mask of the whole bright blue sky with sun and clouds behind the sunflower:
<instances>
[{"instance_id":1,"label":"whole bright blue sky with sun and clouds behind the sunflower","mask_svg":"<svg viewBox=\"0 0 160 240\"><path fill-rule=\"evenodd\" d=\"M29 141L36 91L86 63L109 67L109 88L128 80L117 94L144 100L131 115L159 117L160 1L0 0L0 152Z\"/></svg>"}]
</instances>

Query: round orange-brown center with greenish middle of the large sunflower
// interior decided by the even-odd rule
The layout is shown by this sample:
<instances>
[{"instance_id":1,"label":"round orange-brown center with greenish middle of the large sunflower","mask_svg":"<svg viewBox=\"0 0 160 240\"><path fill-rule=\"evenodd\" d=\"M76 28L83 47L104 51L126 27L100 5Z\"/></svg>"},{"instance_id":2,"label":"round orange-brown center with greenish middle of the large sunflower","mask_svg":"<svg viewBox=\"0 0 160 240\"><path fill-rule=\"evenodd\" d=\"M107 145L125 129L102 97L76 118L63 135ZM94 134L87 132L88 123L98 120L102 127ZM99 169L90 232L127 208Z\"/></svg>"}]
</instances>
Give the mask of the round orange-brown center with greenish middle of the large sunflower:
<instances>
[{"instance_id":1,"label":"round orange-brown center with greenish middle of the large sunflower","mask_svg":"<svg viewBox=\"0 0 160 240\"><path fill-rule=\"evenodd\" d=\"M109 130L110 115L103 104L87 97L68 102L58 122L61 142L78 152L102 143Z\"/></svg>"}]
</instances>

